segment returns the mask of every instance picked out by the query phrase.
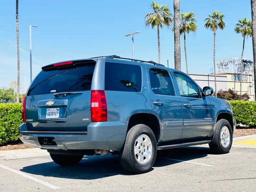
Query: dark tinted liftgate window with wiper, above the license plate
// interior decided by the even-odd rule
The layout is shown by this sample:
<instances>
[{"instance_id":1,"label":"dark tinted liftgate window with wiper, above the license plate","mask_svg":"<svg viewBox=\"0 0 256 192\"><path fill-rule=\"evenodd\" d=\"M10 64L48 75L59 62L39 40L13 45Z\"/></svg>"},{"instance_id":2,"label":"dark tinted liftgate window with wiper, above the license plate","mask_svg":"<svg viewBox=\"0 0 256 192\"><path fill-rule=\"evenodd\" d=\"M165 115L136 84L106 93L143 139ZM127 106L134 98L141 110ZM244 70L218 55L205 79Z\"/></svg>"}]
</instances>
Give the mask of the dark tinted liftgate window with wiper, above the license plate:
<instances>
[{"instance_id":1,"label":"dark tinted liftgate window with wiper, above the license plate","mask_svg":"<svg viewBox=\"0 0 256 192\"><path fill-rule=\"evenodd\" d=\"M90 62L76 68L41 71L32 82L27 95L91 90L95 64L96 62Z\"/></svg>"}]
</instances>

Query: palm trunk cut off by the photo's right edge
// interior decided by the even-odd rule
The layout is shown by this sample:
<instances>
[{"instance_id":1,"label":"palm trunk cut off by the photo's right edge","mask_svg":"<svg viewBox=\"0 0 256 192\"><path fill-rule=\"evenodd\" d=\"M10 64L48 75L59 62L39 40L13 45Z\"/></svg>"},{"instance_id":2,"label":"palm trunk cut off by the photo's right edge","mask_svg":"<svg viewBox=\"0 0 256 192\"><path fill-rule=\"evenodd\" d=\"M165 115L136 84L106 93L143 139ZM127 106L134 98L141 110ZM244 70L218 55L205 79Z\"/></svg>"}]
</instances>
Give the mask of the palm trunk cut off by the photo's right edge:
<instances>
[{"instance_id":1,"label":"palm trunk cut off by the photo's right edge","mask_svg":"<svg viewBox=\"0 0 256 192\"><path fill-rule=\"evenodd\" d=\"M252 15L252 50L254 57L254 100L256 94L256 0L251 0L251 15Z\"/></svg>"}]
</instances>

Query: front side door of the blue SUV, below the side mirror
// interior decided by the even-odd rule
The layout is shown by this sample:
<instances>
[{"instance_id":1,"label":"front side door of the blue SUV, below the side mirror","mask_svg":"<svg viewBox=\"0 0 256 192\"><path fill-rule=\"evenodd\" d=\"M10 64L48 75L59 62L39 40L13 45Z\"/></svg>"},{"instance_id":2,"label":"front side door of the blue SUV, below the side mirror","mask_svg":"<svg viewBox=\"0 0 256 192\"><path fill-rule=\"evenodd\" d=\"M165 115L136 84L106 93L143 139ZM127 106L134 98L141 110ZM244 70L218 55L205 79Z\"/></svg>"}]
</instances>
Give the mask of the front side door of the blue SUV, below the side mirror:
<instances>
[{"instance_id":1,"label":"front side door of the blue SUV, below the side mirror","mask_svg":"<svg viewBox=\"0 0 256 192\"><path fill-rule=\"evenodd\" d=\"M213 129L213 108L208 97L202 97L196 83L186 74L174 72L183 111L183 139L209 137Z\"/></svg>"}]
</instances>

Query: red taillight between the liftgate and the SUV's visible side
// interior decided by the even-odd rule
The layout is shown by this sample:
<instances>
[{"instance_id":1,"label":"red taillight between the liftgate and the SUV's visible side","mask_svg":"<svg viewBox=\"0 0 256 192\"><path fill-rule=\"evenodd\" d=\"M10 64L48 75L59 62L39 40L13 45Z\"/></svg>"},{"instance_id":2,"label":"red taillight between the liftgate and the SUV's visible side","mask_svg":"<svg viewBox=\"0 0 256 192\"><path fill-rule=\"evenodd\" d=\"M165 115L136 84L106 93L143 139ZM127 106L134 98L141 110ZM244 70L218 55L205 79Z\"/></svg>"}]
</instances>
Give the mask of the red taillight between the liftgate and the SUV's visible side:
<instances>
[{"instance_id":1,"label":"red taillight between the liftgate and the SUV's visible side","mask_svg":"<svg viewBox=\"0 0 256 192\"><path fill-rule=\"evenodd\" d=\"M107 121L107 100L105 91L91 91L91 121Z\"/></svg>"}]
</instances>

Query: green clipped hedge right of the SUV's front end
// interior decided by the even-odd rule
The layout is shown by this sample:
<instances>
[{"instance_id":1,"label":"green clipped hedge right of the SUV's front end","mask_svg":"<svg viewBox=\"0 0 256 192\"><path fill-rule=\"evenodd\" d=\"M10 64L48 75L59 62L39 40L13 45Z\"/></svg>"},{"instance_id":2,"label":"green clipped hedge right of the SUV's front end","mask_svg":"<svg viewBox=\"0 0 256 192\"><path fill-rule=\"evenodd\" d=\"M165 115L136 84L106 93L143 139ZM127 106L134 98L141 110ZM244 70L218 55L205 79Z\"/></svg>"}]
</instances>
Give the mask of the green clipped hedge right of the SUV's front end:
<instances>
[{"instance_id":1,"label":"green clipped hedge right of the SUV's front end","mask_svg":"<svg viewBox=\"0 0 256 192\"><path fill-rule=\"evenodd\" d=\"M256 101L228 101L231 105L236 124L256 126Z\"/></svg>"}]
</instances>

